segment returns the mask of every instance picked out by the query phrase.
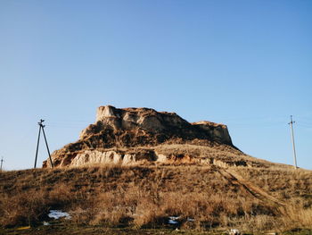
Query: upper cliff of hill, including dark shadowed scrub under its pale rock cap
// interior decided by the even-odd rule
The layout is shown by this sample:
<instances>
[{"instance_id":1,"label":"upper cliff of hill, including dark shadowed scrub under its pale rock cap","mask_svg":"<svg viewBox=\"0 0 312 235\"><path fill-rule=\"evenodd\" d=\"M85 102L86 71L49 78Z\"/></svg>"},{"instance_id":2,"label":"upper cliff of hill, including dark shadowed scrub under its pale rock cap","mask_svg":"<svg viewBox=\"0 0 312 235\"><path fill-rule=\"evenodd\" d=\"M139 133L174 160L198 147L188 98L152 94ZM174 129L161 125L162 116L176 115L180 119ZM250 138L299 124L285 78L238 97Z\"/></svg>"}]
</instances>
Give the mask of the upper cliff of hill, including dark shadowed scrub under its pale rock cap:
<instances>
[{"instance_id":1,"label":"upper cliff of hill, including dark shadowed scrub under its pale rock cap","mask_svg":"<svg viewBox=\"0 0 312 235\"><path fill-rule=\"evenodd\" d=\"M232 145L226 125L214 122L189 123L177 113L156 112L148 108L101 106L97 109L95 124L83 130L80 139L98 134L110 135L104 133L104 130L112 131L115 140L119 140L117 142L125 147L155 145L172 138L207 139ZM114 142L110 138L108 142L111 141Z\"/></svg>"}]
</instances>

